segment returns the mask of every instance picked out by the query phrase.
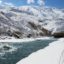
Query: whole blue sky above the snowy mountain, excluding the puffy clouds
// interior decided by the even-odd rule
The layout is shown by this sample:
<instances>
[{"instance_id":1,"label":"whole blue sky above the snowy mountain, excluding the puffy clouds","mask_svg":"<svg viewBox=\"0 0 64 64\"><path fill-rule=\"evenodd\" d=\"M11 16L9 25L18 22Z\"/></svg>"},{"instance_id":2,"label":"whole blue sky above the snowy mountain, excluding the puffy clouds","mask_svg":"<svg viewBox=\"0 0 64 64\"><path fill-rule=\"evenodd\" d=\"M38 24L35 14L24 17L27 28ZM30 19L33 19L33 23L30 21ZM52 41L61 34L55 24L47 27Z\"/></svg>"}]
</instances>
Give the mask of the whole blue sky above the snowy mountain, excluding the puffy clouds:
<instances>
[{"instance_id":1,"label":"whole blue sky above the snowy mountain, excluding the puffy clouds","mask_svg":"<svg viewBox=\"0 0 64 64\"><path fill-rule=\"evenodd\" d=\"M27 4L27 1L32 1L31 2L32 4L38 5L37 0L0 0L0 1L2 1L2 3L5 2L15 6L30 5L30 4ZM64 8L64 0L44 0L44 2L46 6Z\"/></svg>"}]
</instances>

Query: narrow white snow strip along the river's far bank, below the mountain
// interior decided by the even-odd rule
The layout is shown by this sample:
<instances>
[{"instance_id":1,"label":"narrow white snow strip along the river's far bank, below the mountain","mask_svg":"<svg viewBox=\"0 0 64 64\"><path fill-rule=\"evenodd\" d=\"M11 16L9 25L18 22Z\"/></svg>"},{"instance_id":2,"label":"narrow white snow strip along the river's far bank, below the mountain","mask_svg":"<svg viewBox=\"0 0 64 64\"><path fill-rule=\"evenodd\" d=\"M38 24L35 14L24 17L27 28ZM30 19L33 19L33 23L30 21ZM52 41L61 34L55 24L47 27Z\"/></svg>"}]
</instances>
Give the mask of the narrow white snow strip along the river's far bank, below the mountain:
<instances>
[{"instance_id":1,"label":"narrow white snow strip along the river's far bank, below the mountain","mask_svg":"<svg viewBox=\"0 0 64 64\"><path fill-rule=\"evenodd\" d=\"M44 39L53 39L52 37L41 37L41 38L23 38L23 39L15 39L15 38L13 38L13 39L4 39L4 40L0 40L0 42L12 42L12 43L16 43L16 42L29 42L29 41L35 41L35 40L44 40Z\"/></svg>"}]
</instances>

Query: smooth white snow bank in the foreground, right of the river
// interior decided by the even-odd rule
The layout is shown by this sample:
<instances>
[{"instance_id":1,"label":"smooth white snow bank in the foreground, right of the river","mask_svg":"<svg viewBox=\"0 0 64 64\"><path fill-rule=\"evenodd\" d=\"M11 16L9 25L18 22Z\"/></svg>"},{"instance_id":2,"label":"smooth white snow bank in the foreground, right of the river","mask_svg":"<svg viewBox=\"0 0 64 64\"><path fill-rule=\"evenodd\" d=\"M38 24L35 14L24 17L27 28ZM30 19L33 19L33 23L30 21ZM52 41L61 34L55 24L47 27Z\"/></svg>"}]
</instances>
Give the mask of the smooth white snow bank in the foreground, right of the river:
<instances>
[{"instance_id":1,"label":"smooth white snow bank in the foreground, right of the river","mask_svg":"<svg viewBox=\"0 0 64 64\"><path fill-rule=\"evenodd\" d=\"M64 38L52 42L16 64L64 64Z\"/></svg>"}]
</instances>

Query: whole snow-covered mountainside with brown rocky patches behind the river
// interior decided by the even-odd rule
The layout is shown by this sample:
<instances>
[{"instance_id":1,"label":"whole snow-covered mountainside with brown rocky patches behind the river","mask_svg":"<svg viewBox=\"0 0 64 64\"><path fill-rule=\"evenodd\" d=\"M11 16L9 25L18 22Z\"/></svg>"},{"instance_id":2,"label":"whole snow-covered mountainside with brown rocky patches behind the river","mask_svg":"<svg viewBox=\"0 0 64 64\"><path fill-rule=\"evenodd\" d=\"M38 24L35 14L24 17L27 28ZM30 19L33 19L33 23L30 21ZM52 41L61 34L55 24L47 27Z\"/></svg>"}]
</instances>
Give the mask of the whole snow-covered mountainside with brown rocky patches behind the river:
<instances>
[{"instance_id":1,"label":"whole snow-covered mountainside with brown rocky patches behind the river","mask_svg":"<svg viewBox=\"0 0 64 64\"><path fill-rule=\"evenodd\" d=\"M63 9L40 6L0 7L1 35L17 38L49 36L64 34L63 27Z\"/></svg>"}]
</instances>

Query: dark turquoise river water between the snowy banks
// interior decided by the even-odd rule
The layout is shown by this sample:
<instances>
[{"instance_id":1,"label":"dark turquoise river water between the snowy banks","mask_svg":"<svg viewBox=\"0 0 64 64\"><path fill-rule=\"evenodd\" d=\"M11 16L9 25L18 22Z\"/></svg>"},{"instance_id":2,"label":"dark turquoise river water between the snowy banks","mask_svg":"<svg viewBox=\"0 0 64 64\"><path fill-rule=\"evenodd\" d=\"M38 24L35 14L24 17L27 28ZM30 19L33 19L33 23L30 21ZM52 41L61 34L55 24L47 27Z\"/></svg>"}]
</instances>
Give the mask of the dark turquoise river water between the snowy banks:
<instances>
[{"instance_id":1,"label":"dark turquoise river water between the snowy banks","mask_svg":"<svg viewBox=\"0 0 64 64\"><path fill-rule=\"evenodd\" d=\"M33 52L45 48L54 40L37 40L27 43L10 43L12 48L16 48L15 51L5 52L0 56L0 64L16 64L19 60L27 57ZM7 51L6 49L4 49ZM0 51L1 52L1 51Z\"/></svg>"}]
</instances>

